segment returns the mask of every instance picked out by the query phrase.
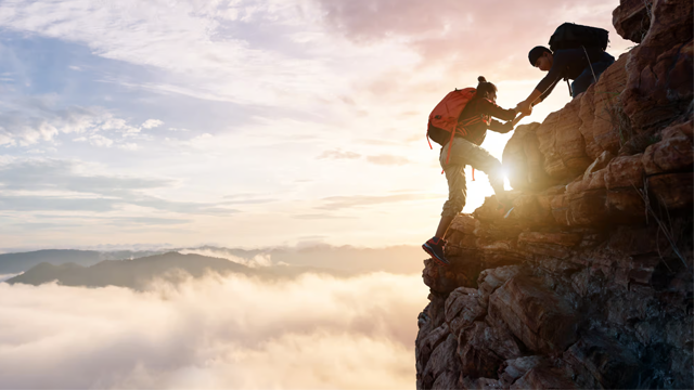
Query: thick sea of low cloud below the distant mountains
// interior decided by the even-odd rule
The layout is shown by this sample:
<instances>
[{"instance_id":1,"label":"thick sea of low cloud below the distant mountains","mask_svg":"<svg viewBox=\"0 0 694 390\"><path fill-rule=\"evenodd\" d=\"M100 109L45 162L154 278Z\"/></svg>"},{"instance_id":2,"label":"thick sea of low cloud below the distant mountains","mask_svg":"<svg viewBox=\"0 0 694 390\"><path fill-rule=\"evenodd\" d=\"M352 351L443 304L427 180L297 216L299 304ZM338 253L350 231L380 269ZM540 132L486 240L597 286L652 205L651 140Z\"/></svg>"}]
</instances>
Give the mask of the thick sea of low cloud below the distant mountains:
<instances>
[{"instance_id":1,"label":"thick sea of low cloud below the distant mountains","mask_svg":"<svg viewBox=\"0 0 694 390\"><path fill-rule=\"evenodd\" d=\"M408 388L426 292L419 275L384 273L268 284L209 276L143 292L0 284L0 381L75 389Z\"/></svg>"}]
</instances>

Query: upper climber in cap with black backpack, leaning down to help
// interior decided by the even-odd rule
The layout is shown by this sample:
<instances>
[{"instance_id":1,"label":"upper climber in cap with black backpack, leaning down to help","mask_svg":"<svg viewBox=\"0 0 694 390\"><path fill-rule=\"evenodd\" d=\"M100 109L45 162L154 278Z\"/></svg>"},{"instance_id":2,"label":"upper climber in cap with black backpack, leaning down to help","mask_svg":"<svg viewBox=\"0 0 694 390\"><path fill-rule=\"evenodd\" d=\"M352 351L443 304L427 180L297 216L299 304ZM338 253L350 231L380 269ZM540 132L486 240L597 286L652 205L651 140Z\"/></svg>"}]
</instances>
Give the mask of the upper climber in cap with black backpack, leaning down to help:
<instances>
[{"instance_id":1,"label":"upper climber in cap with black backpack, leaning down to help","mask_svg":"<svg viewBox=\"0 0 694 390\"><path fill-rule=\"evenodd\" d=\"M550 48L535 47L528 53L530 65L548 75L516 109L524 115L532 113L532 106L543 101L560 80L574 80L568 87L571 98L586 92L597 82L600 75L615 62L607 54L608 31L597 27L564 23L550 38Z\"/></svg>"}]
</instances>

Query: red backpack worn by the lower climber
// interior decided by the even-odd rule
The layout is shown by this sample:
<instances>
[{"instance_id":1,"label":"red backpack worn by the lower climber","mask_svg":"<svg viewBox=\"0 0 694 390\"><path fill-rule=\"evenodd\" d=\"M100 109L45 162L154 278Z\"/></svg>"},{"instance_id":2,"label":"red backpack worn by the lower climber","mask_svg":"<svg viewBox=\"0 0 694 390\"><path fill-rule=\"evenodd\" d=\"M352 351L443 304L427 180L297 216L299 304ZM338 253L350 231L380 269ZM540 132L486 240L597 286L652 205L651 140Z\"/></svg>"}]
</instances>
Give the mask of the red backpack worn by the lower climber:
<instances>
[{"instance_id":1,"label":"red backpack worn by the lower climber","mask_svg":"<svg viewBox=\"0 0 694 390\"><path fill-rule=\"evenodd\" d=\"M455 133L467 135L464 127L458 127L458 122L460 119L460 115L463 113L463 109L470 103L470 101L475 98L477 90L474 88L465 88L462 90L455 89L441 100L432 114L429 114L429 122L426 129L426 141L429 143L429 147L432 147L432 143L429 140L429 130L432 128L440 129L451 134L451 138L448 142L453 141L453 136ZM480 120L479 118L471 118L471 122ZM461 123L463 126L470 123ZM435 142L440 143L438 140ZM444 144L441 144L442 146ZM432 147L433 148L433 147ZM448 159L451 156L451 148L448 148L448 155L446 156L446 164L448 164Z\"/></svg>"}]
</instances>

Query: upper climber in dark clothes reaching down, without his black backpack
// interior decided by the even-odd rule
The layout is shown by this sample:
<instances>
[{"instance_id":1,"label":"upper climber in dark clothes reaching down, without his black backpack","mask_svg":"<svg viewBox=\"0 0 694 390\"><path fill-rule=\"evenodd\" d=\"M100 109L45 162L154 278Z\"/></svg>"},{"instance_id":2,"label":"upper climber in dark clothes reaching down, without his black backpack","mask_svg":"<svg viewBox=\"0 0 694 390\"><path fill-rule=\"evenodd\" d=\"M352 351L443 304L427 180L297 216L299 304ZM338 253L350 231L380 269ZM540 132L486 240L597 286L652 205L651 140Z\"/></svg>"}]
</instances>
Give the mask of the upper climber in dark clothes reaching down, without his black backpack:
<instances>
[{"instance_id":1,"label":"upper climber in dark clothes reaching down, without his black backpack","mask_svg":"<svg viewBox=\"0 0 694 390\"><path fill-rule=\"evenodd\" d=\"M535 47L528 53L530 64L540 70L549 72L525 101L518 103L516 109L530 115L532 106L543 101L561 79L574 80L570 86L571 96L586 92L591 83L596 82L600 75L615 62L615 57L600 48L563 49L552 53L544 47Z\"/></svg>"}]
</instances>

